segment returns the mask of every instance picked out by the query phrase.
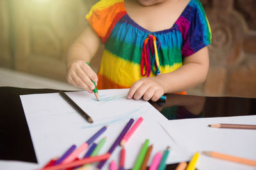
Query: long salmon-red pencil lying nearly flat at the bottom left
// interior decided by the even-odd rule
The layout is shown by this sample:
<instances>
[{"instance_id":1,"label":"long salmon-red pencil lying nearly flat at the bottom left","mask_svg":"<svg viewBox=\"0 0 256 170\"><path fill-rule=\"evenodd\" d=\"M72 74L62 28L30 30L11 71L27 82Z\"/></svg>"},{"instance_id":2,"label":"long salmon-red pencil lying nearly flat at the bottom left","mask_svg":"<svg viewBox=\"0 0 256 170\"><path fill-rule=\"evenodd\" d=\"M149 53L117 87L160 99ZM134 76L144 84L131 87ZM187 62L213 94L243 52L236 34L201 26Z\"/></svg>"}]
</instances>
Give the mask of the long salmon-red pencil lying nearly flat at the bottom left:
<instances>
[{"instance_id":1,"label":"long salmon-red pencil lying nearly flat at the bottom left","mask_svg":"<svg viewBox=\"0 0 256 170\"><path fill-rule=\"evenodd\" d=\"M88 157L88 158L83 158L80 160L75 160L73 162L69 163L62 163L50 167L43 167L42 170L57 170L57 169L67 169L69 167L76 167L76 166L82 166L84 164L90 164L93 162L100 162L102 160L107 160L110 157L109 153L106 153L104 155L99 155L95 157Z\"/></svg>"}]
</instances>

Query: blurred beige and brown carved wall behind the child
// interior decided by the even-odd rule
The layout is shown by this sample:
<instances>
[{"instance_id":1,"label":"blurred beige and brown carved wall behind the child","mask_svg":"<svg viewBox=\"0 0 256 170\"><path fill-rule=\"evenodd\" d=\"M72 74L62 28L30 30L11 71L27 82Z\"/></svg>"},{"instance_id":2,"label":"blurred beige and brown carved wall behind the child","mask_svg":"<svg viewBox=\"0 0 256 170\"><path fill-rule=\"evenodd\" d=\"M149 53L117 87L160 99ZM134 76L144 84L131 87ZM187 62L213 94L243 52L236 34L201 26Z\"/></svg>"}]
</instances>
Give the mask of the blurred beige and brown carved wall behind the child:
<instances>
[{"instance_id":1,"label":"blurred beige and brown carved wall behind the child","mask_svg":"<svg viewBox=\"0 0 256 170\"><path fill-rule=\"evenodd\" d=\"M0 67L65 82L65 54L96 2L0 0ZM211 66L205 83L188 92L256 97L256 1L201 2L212 29ZM91 63L96 72L102 48Z\"/></svg>"}]
</instances>

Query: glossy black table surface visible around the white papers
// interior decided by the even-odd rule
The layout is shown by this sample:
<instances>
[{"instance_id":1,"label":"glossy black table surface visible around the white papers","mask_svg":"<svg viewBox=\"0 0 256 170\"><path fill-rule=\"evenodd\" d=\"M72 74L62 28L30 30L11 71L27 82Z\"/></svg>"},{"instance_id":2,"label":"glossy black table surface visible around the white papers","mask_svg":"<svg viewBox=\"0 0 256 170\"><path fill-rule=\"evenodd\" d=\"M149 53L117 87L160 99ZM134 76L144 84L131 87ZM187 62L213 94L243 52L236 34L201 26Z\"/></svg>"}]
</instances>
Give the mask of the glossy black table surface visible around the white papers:
<instances>
[{"instance_id":1,"label":"glossy black table surface visible around the white papers","mask_svg":"<svg viewBox=\"0 0 256 170\"><path fill-rule=\"evenodd\" d=\"M0 160L37 162L19 95L56 93L59 89L0 87ZM150 102L168 120L256 114L256 98L198 97L167 94ZM175 169L171 164L166 169Z\"/></svg>"}]
</instances>

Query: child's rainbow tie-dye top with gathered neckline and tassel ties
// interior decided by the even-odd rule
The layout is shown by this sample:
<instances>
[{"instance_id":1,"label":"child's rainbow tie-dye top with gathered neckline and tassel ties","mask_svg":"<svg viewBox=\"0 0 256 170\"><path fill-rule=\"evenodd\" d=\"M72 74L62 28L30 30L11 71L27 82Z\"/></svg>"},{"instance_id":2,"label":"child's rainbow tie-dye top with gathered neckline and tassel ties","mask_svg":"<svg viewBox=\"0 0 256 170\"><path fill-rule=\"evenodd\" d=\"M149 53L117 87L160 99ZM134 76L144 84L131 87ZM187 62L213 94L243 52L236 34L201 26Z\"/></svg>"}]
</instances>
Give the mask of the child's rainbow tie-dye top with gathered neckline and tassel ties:
<instances>
[{"instance_id":1,"label":"child's rainbow tie-dye top with gathered neckline and tassel ties","mask_svg":"<svg viewBox=\"0 0 256 170\"><path fill-rule=\"evenodd\" d=\"M130 88L143 76L173 72L184 57L211 43L209 22L198 0L191 0L175 24L163 31L150 32L136 24L124 0L101 0L86 19L105 45L98 89Z\"/></svg>"}]
</instances>

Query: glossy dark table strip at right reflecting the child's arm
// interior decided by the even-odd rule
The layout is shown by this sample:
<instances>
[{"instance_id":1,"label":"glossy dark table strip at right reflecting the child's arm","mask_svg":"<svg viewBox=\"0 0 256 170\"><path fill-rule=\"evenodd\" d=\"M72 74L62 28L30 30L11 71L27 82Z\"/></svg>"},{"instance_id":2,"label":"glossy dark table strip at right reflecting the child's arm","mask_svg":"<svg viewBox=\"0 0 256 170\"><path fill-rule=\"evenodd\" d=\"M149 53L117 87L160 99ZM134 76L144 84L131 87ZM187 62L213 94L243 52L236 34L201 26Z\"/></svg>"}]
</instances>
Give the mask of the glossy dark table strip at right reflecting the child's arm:
<instances>
[{"instance_id":1,"label":"glossy dark table strip at right reflecting the child's arm","mask_svg":"<svg viewBox=\"0 0 256 170\"><path fill-rule=\"evenodd\" d=\"M246 116L256 113L256 98L166 95L166 101L150 102L168 120Z\"/></svg>"}]
</instances>

